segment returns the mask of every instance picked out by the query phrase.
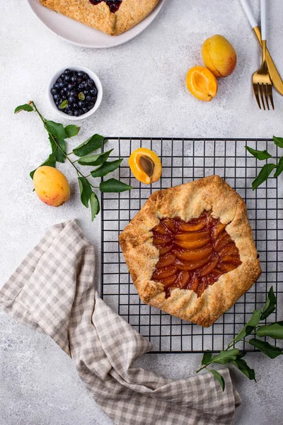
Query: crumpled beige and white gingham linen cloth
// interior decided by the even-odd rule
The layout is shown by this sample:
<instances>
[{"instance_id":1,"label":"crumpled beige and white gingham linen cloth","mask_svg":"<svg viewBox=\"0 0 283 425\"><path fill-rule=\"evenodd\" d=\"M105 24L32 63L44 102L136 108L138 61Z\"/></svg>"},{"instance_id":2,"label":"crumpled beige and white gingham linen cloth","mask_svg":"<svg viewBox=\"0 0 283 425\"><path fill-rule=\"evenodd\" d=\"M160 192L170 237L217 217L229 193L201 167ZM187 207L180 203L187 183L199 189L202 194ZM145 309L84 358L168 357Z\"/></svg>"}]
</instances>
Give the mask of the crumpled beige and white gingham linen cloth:
<instances>
[{"instance_id":1,"label":"crumpled beige and white gingham linen cloth","mask_svg":"<svg viewBox=\"0 0 283 425\"><path fill-rule=\"evenodd\" d=\"M94 248L76 221L55 225L0 290L0 307L73 358L115 424L232 424L241 399L227 368L222 392L210 373L170 380L134 367L151 344L100 299L94 270Z\"/></svg>"}]
</instances>

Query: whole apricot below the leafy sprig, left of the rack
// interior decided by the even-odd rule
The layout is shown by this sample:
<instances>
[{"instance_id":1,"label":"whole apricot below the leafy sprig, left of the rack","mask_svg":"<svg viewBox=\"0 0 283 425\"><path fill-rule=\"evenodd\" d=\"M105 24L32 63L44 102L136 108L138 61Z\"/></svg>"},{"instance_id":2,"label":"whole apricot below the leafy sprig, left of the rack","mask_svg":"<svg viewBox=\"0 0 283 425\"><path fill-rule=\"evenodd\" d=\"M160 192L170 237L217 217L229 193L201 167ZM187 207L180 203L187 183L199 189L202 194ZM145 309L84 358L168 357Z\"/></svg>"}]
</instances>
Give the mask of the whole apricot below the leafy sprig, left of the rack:
<instances>
[{"instance_id":1,"label":"whole apricot below the leafy sprig, left of the rack","mask_svg":"<svg viewBox=\"0 0 283 425\"><path fill-rule=\"evenodd\" d=\"M35 192L42 202L59 207L70 197L69 183L61 171L52 166L40 166L33 175Z\"/></svg>"}]
</instances>

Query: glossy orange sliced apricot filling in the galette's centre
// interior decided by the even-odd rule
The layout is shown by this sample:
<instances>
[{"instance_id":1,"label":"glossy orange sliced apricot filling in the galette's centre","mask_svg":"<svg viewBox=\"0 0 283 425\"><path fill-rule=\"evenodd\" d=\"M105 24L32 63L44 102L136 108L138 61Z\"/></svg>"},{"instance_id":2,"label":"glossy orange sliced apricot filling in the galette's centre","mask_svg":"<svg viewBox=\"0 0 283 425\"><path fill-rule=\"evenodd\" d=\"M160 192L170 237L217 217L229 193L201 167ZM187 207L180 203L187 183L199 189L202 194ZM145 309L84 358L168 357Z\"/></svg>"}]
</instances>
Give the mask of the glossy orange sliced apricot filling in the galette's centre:
<instances>
[{"instance_id":1,"label":"glossy orange sliced apricot filling in the galette's centre","mask_svg":"<svg viewBox=\"0 0 283 425\"><path fill-rule=\"evenodd\" d=\"M152 229L159 261L151 280L163 284L166 298L175 288L190 289L200 297L219 277L241 265L226 225L204 211L189 222L165 217Z\"/></svg>"}]
</instances>

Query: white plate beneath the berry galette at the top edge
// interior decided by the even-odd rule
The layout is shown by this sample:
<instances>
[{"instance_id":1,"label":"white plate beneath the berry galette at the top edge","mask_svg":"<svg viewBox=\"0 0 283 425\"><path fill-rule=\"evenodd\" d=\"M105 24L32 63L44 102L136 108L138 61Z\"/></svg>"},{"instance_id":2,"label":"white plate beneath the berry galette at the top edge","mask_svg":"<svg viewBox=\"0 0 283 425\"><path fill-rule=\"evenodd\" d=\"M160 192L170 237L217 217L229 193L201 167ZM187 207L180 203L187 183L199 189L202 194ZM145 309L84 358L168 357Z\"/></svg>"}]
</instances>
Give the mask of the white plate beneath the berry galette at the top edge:
<instances>
[{"instance_id":1,"label":"white plate beneath the berry galette at the top edge","mask_svg":"<svg viewBox=\"0 0 283 425\"><path fill-rule=\"evenodd\" d=\"M126 33L115 36L101 33L94 28L83 25L83 23L67 18L67 16L61 15L61 13L50 11L50 9L42 6L38 0L28 0L28 4L37 18L39 18L40 21L52 31L52 33L59 35L59 37L64 38L64 40L75 45L92 47L95 49L105 49L105 47L122 45L139 35L141 31L145 30L145 28L154 21L154 18L156 18L159 11L161 11L164 1L165 0L159 0L156 8L154 8L144 21L141 21L134 26L134 28L126 31Z\"/></svg>"}]
</instances>

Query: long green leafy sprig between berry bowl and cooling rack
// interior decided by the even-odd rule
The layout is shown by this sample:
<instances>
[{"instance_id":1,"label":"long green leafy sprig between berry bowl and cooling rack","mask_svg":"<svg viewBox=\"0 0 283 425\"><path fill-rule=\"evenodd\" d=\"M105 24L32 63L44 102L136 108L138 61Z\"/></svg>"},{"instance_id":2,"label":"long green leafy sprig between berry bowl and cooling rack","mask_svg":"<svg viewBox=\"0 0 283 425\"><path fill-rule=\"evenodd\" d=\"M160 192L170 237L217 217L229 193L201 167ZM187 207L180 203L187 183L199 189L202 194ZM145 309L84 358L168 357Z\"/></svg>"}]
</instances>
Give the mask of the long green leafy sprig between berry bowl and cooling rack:
<instances>
[{"instance_id":1,"label":"long green leafy sprig between berry bowl and cooling rack","mask_svg":"<svg viewBox=\"0 0 283 425\"><path fill-rule=\"evenodd\" d=\"M42 120L45 130L47 130L52 152L45 162L40 164L40 166L47 165L56 168L57 162L64 163L67 160L76 170L81 193L81 203L83 203L86 208L91 205L92 221L95 219L96 215L98 215L98 212L100 212L98 196L93 189L99 189L100 192L104 193L119 193L132 189L132 186L129 186L117 179L101 181L99 186L93 186L91 181L88 180L90 177L100 178L107 176L109 173L119 168L123 161L123 158L116 159L115 161L108 161L113 149L110 149L108 152L102 152L103 144L107 142L107 140L104 140L103 136L95 134L89 137L86 142L83 142L81 145L73 149L72 152L67 154L66 139L74 137L79 133L80 128L77 125L67 125L67 127L64 127L62 124L46 120L40 111L38 111L37 106L33 101L25 103L25 105L20 105L15 109L15 113L20 111L37 113ZM100 149L101 152L93 154L93 152L98 149ZM72 161L70 158L71 154L76 155L79 159ZM76 166L76 162L81 166L96 166L96 169L91 171L88 176L84 176L80 169ZM30 177L32 179L35 171L36 169L30 172Z\"/></svg>"}]
</instances>

